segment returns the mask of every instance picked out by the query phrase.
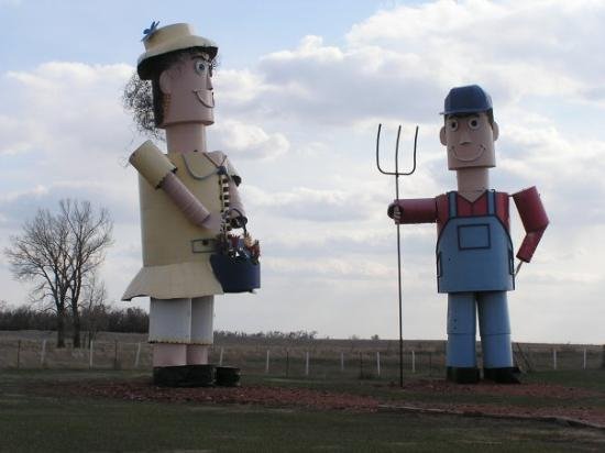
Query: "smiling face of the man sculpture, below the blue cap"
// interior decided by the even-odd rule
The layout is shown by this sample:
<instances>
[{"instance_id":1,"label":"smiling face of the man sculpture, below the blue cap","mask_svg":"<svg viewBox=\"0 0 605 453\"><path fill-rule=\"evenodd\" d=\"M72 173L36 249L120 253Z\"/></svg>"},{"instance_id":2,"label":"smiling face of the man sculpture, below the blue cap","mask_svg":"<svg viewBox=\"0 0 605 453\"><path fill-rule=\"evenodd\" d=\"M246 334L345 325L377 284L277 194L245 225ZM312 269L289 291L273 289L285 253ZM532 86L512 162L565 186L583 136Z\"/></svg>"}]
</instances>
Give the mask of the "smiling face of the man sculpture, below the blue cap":
<instances>
[{"instance_id":1,"label":"smiling face of the man sculpture, below the blue cap","mask_svg":"<svg viewBox=\"0 0 605 453\"><path fill-rule=\"evenodd\" d=\"M440 139L448 148L448 168L496 166L497 137L498 126L490 123L486 112L446 117Z\"/></svg>"}]
</instances>

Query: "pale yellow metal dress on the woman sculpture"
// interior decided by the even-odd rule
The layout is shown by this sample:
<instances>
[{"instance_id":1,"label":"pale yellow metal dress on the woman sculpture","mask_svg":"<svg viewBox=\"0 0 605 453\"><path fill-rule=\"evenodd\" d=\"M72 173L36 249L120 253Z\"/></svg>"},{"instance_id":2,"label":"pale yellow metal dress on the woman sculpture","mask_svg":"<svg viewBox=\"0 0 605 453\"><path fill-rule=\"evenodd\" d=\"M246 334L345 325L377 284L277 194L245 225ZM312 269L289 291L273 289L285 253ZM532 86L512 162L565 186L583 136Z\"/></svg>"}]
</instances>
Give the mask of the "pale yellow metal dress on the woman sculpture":
<instances>
[{"instance_id":1,"label":"pale yellow metal dress on the woman sculpture","mask_svg":"<svg viewBox=\"0 0 605 453\"><path fill-rule=\"evenodd\" d=\"M217 165L221 152L168 153L176 176L211 213L221 211L221 183ZM185 162L185 158L187 159ZM227 165L226 165L227 164ZM128 286L122 300L138 296L156 299L195 298L223 294L210 265L215 233L189 222L162 189L139 177L143 267Z\"/></svg>"}]
</instances>

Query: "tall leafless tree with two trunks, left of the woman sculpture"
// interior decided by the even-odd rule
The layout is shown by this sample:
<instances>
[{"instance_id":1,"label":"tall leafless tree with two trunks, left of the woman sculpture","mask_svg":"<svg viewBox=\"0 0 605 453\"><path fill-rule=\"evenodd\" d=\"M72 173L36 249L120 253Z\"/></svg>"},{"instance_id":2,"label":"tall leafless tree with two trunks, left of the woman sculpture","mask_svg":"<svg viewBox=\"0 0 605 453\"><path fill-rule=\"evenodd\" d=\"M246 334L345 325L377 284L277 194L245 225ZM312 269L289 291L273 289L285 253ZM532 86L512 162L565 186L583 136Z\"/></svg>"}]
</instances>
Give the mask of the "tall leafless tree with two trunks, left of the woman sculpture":
<instances>
[{"instance_id":1,"label":"tall leafless tree with two trunks, left of the woman sculpture","mask_svg":"<svg viewBox=\"0 0 605 453\"><path fill-rule=\"evenodd\" d=\"M55 311L57 347L65 347L67 309L74 325L74 347L80 346L82 285L103 262L112 228L106 209L96 214L88 201L62 200L57 214L40 209L4 250L13 276L34 283L32 300L48 303Z\"/></svg>"}]
</instances>

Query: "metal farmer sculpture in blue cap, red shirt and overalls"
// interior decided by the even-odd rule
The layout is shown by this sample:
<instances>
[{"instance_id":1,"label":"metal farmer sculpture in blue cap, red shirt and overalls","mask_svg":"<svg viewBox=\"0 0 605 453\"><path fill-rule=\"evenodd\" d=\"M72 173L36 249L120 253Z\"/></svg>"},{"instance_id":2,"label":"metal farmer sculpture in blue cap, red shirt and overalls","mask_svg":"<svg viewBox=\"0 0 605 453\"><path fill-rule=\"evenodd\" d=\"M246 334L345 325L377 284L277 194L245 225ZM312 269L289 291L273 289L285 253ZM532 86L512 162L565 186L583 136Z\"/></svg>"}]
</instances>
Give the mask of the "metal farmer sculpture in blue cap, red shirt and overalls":
<instances>
[{"instance_id":1,"label":"metal farmer sculpture in blue cap, red shirt and overalls","mask_svg":"<svg viewBox=\"0 0 605 453\"><path fill-rule=\"evenodd\" d=\"M450 90L444 102L441 143L448 167L457 172L458 190L436 198L399 199L388 208L396 223L436 222L437 286L448 294L448 379L476 383L476 313L484 378L518 383L513 363L507 291L515 289L509 234L509 197L526 236L517 257L529 263L548 225L536 187L513 196L490 188L495 167L498 125L492 99L479 86ZM518 267L517 267L518 270Z\"/></svg>"}]
</instances>

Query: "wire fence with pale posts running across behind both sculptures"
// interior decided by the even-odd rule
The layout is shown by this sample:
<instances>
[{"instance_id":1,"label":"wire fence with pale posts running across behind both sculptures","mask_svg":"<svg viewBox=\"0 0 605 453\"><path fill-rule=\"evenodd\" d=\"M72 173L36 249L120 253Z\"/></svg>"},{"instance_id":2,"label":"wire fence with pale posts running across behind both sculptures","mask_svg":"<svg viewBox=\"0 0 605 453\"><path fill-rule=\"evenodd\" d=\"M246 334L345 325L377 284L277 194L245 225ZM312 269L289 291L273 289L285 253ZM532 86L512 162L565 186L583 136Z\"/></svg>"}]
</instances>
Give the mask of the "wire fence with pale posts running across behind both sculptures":
<instances>
[{"instance_id":1,"label":"wire fence with pale posts running across behind both sculptures","mask_svg":"<svg viewBox=\"0 0 605 453\"><path fill-rule=\"evenodd\" d=\"M284 377L330 378L356 376L396 380L399 356L396 347L356 347L321 345L305 341L302 345L216 344L209 362L231 365L244 374L270 374ZM386 343L386 342L381 342ZM415 342L404 349L404 372L442 376L446 371L446 342ZM345 343L344 343L345 344ZM595 369L605 364L605 345L549 345L514 343L515 362L521 371ZM481 364L481 346L477 361ZM94 341L87 347L57 349L50 339L0 339L0 368L73 369L151 369L152 345L146 342Z\"/></svg>"}]
</instances>

